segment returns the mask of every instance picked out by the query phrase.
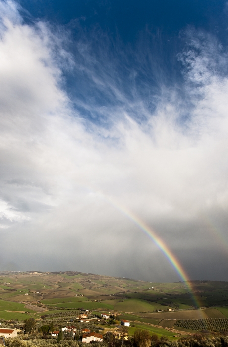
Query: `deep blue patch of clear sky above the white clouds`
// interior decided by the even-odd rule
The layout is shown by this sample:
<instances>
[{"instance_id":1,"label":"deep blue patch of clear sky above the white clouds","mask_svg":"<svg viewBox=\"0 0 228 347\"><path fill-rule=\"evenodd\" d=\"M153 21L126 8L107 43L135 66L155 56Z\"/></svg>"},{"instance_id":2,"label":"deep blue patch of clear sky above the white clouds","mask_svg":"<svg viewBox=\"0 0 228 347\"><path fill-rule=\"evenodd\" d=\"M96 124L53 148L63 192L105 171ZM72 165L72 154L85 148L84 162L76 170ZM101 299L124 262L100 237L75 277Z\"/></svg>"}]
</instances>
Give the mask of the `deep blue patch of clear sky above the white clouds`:
<instances>
[{"instance_id":1,"label":"deep blue patch of clear sky above the white clouds","mask_svg":"<svg viewBox=\"0 0 228 347\"><path fill-rule=\"evenodd\" d=\"M226 1L21 1L20 4L26 22L42 20L54 31L58 28L67 32L64 48L83 67L79 71L77 68L63 71L65 88L80 116L103 126L112 120L96 112L91 114L81 101L89 97L97 106L124 103L106 88L95 86L91 75L82 71L88 65L88 57L80 52L81 45L87 46L86 54L93 60L89 64L91 70L95 69L104 80L109 78L109 71L124 97L132 101L137 93L153 112L164 84L182 89L184 67L178 54L186 46L187 28L205 30L225 45L227 42ZM144 115L131 112L137 121L145 120Z\"/></svg>"}]
</instances>

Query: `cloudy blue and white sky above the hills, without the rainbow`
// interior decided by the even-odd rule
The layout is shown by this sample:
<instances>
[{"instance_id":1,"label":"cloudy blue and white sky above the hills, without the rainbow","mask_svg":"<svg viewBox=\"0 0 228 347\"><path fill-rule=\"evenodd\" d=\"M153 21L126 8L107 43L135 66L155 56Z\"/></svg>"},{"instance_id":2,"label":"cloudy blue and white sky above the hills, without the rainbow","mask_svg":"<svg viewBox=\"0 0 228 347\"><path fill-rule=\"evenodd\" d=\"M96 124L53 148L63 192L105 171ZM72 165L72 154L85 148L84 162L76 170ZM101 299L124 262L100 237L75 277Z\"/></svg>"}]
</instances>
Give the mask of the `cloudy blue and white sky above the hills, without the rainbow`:
<instances>
[{"instance_id":1,"label":"cloudy blue and white sky above the hills, without the rainbow","mask_svg":"<svg viewBox=\"0 0 228 347\"><path fill-rule=\"evenodd\" d=\"M0 0L0 270L228 281L227 152L227 1Z\"/></svg>"}]
</instances>

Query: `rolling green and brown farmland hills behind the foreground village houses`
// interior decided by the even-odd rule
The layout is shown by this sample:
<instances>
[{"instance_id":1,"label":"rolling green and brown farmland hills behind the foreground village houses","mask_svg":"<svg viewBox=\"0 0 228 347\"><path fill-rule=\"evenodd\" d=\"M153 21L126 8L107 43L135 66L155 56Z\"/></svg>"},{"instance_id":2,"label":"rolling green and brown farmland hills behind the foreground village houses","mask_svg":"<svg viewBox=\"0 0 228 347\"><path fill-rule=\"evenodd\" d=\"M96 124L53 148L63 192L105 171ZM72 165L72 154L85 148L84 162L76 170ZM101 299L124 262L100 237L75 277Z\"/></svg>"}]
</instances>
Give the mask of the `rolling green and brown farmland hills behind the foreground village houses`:
<instances>
[{"instance_id":1,"label":"rolling green and brown farmland hills behind the foreground village houses","mask_svg":"<svg viewBox=\"0 0 228 347\"><path fill-rule=\"evenodd\" d=\"M2 272L0 319L38 321L45 315L46 320L59 322L75 319L84 309L127 319L132 333L139 325L158 329L159 334L164 330L173 334L169 329L177 328L186 332L226 329L228 282L191 281L190 285L192 292L184 282L144 282L73 271Z\"/></svg>"}]
</instances>

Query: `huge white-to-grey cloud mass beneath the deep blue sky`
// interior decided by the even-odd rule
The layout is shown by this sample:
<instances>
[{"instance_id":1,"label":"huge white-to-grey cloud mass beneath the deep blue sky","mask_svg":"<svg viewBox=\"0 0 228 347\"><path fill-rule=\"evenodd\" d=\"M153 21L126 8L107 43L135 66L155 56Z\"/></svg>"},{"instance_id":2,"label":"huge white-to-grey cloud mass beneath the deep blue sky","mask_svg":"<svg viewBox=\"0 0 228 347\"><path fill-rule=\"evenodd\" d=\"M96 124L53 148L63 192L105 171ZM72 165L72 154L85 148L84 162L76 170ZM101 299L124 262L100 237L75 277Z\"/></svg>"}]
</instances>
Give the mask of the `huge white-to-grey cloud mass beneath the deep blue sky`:
<instances>
[{"instance_id":1,"label":"huge white-to-grey cloud mass beneath the deep blue sky","mask_svg":"<svg viewBox=\"0 0 228 347\"><path fill-rule=\"evenodd\" d=\"M0 1L0 6L0 218L1 228L8 228L2 234L5 249L14 235L20 235L6 261L17 261L21 268L30 259L33 267L71 266L117 275L133 274L133 267L140 269L144 262L148 273L152 259L157 262L155 277L160 276L160 261L163 273L174 278L153 243L109 199L156 226L171 248L177 245L177 254L197 247L207 251L213 244L219 248L210 235L205 241L208 234L201 216L228 208L228 79L212 72L207 47L197 57L193 49L187 56L187 78L198 88L193 92L186 83L192 104L188 122L179 121L183 110L177 93L168 90L169 102L160 98L152 115L138 96L129 102L112 78L105 78L104 67L103 76L92 71L94 85L106 89L107 83L110 94L124 106L98 108L89 99L88 108L108 114L113 125L104 129L90 124L87 131L88 124L60 87L63 78L53 34L44 23L23 24L14 2ZM213 47L219 54L210 37L207 42L208 50ZM72 60L59 49L61 59ZM88 57L88 75L91 61ZM132 120L133 108L139 116L147 115L146 125ZM187 244L184 237L189 238ZM143 259L138 247L144 250ZM117 260L104 264L102 253ZM44 260L33 259L39 254ZM132 260L134 254L138 257ZM121 257L128 264L124 270ZM50 267L45 267L47 262Z\"/></svg>"}]
</instances>

